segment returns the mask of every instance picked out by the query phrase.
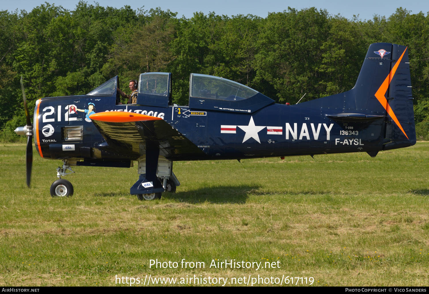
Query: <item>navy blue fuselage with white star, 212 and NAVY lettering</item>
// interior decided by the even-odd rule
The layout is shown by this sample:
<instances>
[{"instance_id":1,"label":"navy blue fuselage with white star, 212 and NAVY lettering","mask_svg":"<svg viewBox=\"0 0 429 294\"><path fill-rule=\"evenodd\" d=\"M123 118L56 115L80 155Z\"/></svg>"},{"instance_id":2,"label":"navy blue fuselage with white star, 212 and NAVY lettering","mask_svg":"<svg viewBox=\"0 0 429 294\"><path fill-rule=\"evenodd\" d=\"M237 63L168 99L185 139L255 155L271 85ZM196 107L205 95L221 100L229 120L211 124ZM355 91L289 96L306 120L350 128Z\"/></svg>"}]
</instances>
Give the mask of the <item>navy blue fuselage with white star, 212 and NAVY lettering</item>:
<instances>
[{"instance_id":1,"label":"navy blue fuselage with white star, 212 and NAVY lettering","mask_svg":"<svg viewBox=\"0 0 429 294\"><path fill-rule=\"evenodd\" d=\"M310 101L311 102L311 101ZM88 105L93 105L89 109ZM204 155L175 160L243 159L382 149L384 117L338 121L335 107L272 103L253 113L190 109L188 106L116 105L115 97L40 99L35 108L36 149L43 158L131 159L97 150L103 136L92 112L121 111L159 117L197 145ZM74 136L76 135L76 136Z\"/></svg>"}]
</instances>

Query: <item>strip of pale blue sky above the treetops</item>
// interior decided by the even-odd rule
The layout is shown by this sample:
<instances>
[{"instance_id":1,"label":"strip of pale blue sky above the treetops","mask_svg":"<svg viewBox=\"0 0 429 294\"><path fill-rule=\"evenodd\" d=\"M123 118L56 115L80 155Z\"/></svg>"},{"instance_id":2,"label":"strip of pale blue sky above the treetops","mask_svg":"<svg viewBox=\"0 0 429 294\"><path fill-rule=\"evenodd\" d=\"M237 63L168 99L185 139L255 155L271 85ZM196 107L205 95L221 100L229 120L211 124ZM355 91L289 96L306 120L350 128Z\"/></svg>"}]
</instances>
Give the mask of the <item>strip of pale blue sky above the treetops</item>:
<instances>
[{"instance_id":1,"label":"strip of pale blue sky above the treetops","mask_svg":"<svg viewBox=\"0 0 429 294\"><path fill-rule=\"evenodd\" d=\"M76 7L78 0L48 0L48 3L61 5L66 9L73 10ZM94 1L88 0L88 4L94 4ZM422 0L162 0L162 1L142 1L142 0L99 0L97 1L101 6L123 7L130 5L133 9L144 6L144 9L161 7L163 10L170 9L173 12L178 12L178 17L184 15L190 18L193 12L203 12L208 14L214 11L218 15L237 15L237 14L253 14L260 17L266 17L268 12L280 12L287 9L287 6L296 9L303 9L308 7L316 7L317 9L326 9L330 14L341 14L346 18L353 18L353 15L359 15L359 18L372 19L374 15L381 15L389 17L392 15L396 8L402 7L411 10L412 13L422 11L425 15L429 11L429 1ZM44 3L42 0L15 0L5 1L0 4L0 10L9 10L10 12L15 9L25 9L30 12L35 6Z\"/></svg>"}]
</instances>

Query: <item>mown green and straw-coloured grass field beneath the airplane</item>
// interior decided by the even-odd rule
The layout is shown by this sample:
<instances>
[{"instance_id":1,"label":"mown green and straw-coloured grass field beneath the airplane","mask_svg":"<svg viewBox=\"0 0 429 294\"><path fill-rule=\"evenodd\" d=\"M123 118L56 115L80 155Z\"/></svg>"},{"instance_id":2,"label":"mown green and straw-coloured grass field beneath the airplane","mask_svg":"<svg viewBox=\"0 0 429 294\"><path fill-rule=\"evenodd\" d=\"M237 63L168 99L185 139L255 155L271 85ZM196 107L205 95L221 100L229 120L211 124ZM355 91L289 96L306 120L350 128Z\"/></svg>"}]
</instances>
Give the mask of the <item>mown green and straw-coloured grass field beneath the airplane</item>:
<instances>
[{"instance_id":1,"label":"mown green and straw-coloured grass field beneath the airplane","mask_svg":"<svg viewBox=\"0 0 429 294\"><path fill-rule=\"evenodd\" d=\"M429 285L429 142L376 158L177 162L182 185L154 201L129 194L136 167L74 167L73 197L53 198L58 165L35 153L28 189L25 145L0 145L0 285L109 286L116 275ZM279 268L209 268L231 259Z\"/></svg>"}]
</instances>

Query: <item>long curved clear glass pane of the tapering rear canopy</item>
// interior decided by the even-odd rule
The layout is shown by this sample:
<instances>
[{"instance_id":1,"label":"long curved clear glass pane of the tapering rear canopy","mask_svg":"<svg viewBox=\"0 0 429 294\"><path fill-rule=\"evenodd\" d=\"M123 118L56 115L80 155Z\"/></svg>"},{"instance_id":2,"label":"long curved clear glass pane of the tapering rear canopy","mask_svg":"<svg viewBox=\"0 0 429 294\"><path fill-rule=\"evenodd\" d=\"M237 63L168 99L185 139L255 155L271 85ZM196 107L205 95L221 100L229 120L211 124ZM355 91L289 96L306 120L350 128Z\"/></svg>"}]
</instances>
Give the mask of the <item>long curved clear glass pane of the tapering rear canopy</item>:
<instances>
[{"instance_id":1,"label":"long curved clear glass pane of the tapering rear canopy","mask_svg":"<svg viewBox=\"0 0 429 294\"><path fill-rule=\"evenodd\" d=\"M198 73L191 73L189 90L190 97L228 101L247 99L258 93L258 91L237 82Z\"/></svg>"}]
</instances>

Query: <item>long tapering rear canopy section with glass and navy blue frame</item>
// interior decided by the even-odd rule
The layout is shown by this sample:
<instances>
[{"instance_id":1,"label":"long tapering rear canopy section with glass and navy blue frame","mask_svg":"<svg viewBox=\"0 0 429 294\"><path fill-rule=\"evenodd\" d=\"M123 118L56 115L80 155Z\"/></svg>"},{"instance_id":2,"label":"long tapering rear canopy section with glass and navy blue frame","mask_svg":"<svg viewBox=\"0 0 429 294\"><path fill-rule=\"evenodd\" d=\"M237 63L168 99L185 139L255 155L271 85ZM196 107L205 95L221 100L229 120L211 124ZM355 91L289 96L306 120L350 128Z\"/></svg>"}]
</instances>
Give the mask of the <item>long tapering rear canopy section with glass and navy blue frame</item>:
<instances>
[{"instance_id":1,"label":"long tapering rear canopy section with glass and navy blue frame","mask_svg":"<svg viewBox=\"0 0 429 294\"><path fill-rule=\"evenodd\" d=\"M271 103L274 100L229 79L190 74L189 107L192 109L252 113Z\"/></svg>"}]
</instances>

